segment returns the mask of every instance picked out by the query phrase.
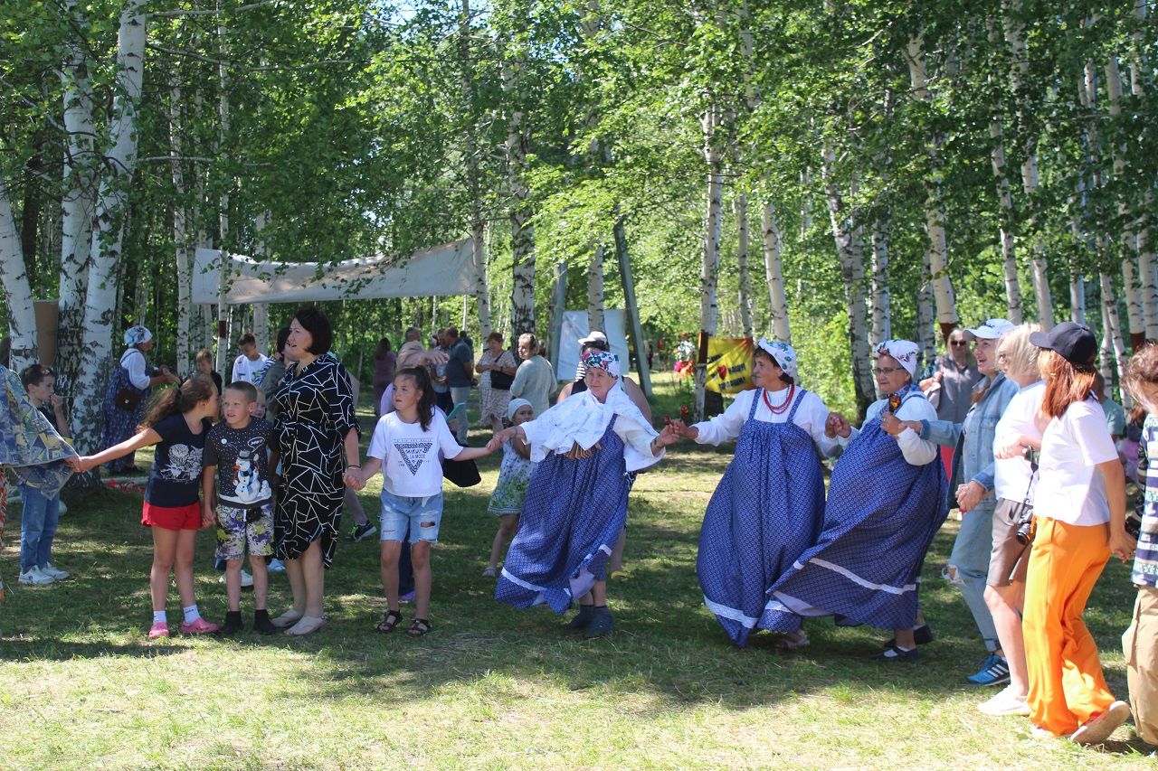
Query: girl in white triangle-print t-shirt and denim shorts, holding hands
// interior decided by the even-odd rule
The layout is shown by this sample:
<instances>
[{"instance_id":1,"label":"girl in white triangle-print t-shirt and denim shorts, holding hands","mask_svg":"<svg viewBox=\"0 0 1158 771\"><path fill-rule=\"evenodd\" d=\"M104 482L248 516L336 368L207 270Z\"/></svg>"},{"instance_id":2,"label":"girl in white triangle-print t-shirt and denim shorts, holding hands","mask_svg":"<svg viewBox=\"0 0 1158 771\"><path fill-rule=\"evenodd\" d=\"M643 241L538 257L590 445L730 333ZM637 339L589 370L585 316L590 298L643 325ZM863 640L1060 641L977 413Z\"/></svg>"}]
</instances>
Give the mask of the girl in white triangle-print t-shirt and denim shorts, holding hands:
<instances>
[{"instance_id":1,"label":"girl in white triangle-print t-shirt and denim shorts, holding hands","mask_svg":"<svg viewBox=\"0 0 1158 771\"><path fill-rule=\"evenodd\" d=\"M382 589L387 610L378 631L386 634L402 621L398 605L398 558L402 536L410 528L410 559L415 566L415 621L411 637L431 631L431 546L438 543L442 520L441 457L469 461L489 455L489 447L460 447L434 409L434 389L425 368L408 367L394 377L394 412L382 416L369 440L366 465L349 472L352 486L382 471Z\"/></svg>"}]
</instances>

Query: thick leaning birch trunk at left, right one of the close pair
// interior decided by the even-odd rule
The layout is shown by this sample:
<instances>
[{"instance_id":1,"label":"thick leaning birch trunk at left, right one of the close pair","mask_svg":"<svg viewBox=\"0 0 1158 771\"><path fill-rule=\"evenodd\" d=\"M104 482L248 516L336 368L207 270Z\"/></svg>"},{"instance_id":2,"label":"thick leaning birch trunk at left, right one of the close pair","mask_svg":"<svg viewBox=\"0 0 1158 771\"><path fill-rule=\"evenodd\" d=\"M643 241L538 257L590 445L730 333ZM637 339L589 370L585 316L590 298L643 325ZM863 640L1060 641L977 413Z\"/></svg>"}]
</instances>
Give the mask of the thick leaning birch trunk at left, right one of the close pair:
<instances>
[{"instance_id":1,"label":"thick leaning birch trunk at left, right one of the close pair","mask_svg":"<svg viewBox=\"0 0 1158 771\"><path fill-rule=\"evenodd\" d=\"M111 147L96 201L93 248L89 254L88 291L85 299L85 367L81 368L73 405L74 446L83 454L101 449L104 423L104 387L111 367L117 280L124 229L120 226L137 161L137 104L145 75L145 0L126 0L117 35L117 95L112 101ZM117 340L119 343L119 340Z\"/></svg>"}]
</instances>

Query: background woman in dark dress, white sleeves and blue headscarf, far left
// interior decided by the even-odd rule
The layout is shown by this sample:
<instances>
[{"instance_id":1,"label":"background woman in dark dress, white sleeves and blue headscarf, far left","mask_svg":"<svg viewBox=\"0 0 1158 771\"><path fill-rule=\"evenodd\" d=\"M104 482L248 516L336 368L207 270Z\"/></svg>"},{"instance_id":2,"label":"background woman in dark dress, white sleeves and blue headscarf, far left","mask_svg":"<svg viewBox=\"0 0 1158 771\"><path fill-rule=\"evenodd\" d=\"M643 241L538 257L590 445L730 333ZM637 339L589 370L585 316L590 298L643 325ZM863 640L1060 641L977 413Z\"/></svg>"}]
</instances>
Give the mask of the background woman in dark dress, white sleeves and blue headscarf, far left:
<instances>
[{"instance_id":1,"label":"background woman in dark dress, white sleeves and blue headscarf, far left","mask_svg":"<svg viewBox=\"0 0 1158 771\"><path fill-rule=\"evenodd\" d=\"M159 383L178 383L179 380L169 374L164 367L151 369L145 364L145 354L153 347L153 332L146 326L130 326L124 336L125 352L120 362L112 372L109 387L104 390L104 432L101 435L101 449L119 445L137 433L137 426L145 418L153 387ZM134 471L133 453L109 461L104 464L109 471L117 473Z\"/></svg>"}]
</instances>

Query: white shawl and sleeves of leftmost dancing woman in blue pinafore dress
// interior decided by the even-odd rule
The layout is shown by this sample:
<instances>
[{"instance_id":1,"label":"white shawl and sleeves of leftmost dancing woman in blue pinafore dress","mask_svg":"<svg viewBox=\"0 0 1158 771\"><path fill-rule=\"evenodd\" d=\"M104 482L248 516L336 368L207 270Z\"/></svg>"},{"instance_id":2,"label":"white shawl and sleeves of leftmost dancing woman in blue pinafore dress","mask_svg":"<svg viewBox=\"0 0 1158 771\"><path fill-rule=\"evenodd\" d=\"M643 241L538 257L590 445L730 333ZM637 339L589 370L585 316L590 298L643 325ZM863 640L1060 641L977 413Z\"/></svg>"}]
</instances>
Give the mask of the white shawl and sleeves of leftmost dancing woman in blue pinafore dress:
<instances>
[{"instance_id":1,"label":"white shawl and sleeves of leftmost dancing woman in blue pinafore dress","mask_svg":"<svg viewBox=\"0 0 1158 771\"><path fill-rule=\"evenodd\" d=\"M563 399L534 420L522 424L523 435L530 443L530 460L538 462L549 453L566 453L574 445L591 449L607 431L607 426L616 419L616 425L623 427L623 421L638 424L651 436L659 434L644 418L616 379L607 392L607 399L600 402L591 390ZM638 471L659 462L658 457L644 455L630 445L624 443L623 460L628 471Z\"/></svg>"}]
</instances>

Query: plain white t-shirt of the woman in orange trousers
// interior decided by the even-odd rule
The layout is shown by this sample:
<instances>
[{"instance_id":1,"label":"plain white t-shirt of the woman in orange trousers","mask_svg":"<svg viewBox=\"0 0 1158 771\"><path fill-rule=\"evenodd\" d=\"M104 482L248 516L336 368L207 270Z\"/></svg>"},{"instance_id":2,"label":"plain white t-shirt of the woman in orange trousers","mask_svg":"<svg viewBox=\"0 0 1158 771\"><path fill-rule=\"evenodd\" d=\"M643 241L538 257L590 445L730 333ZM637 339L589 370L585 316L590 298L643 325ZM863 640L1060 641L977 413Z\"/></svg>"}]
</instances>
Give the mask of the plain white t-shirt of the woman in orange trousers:
<instances>
[{"instance_id":1,"label":"plain white t-shirt of the woman in orange trousers","mask_svg":"<svg viewBox=\"0 0 1158 771\"><path fill-rule=\"evenodd\" d=\"M1101 405L1071 404L1042 434L1033 513L1086 527L1109 522L1106 480L1094 467L1116 460Z\"/></svg>"}]
</instances>

